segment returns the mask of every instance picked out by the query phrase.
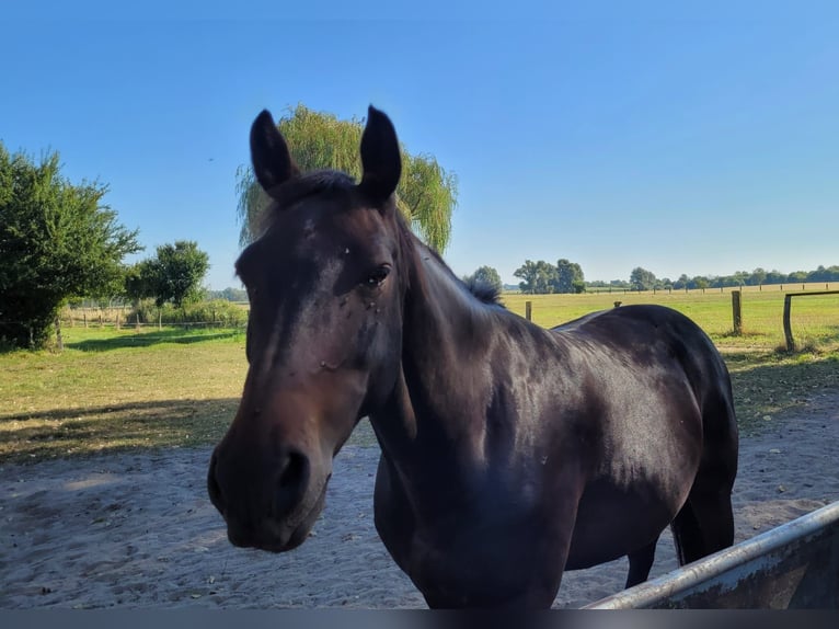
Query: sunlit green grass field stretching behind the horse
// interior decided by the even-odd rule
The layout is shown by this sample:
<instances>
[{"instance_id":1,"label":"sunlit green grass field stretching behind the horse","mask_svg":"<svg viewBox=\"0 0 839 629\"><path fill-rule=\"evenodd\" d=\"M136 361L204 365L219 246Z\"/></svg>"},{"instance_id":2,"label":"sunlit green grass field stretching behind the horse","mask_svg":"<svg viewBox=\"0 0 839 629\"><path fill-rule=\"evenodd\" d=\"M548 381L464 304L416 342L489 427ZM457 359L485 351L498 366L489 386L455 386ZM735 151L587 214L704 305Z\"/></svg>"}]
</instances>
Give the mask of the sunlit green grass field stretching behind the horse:
<instances>
[{"instance_id":1,"label":"sunlit green grass field stretching behind the horse","mask_svg":"<svg viewBox=\"0 0 839 629\"><path fill-rule=\"evenodd\" d=\"M593 310L655 301L702 325L732 373L745 432L779 412L839 389L839 295L793 305L796 340L783 344L779 291L746 293L744 335L731 334L731 295L506 295L513 311L533 302L533 319L555 325ZM246 371L241 330L65 328L65 351L0 355L0 461L87 456L126 448L218 442L232 419ZM375 443L363 423L350 443Z\"/></svg>"}]
</instances>

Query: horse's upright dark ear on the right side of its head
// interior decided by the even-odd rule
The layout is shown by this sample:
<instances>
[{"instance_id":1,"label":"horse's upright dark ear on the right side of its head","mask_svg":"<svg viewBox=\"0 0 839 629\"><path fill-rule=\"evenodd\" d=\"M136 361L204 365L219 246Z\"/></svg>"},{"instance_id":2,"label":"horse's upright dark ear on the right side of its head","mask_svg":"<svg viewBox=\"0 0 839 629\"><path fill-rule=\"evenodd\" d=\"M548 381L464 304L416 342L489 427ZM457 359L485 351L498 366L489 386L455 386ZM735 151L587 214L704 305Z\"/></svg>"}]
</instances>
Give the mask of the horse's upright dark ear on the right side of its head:
<instances>
[{"instance_id":1,"label":"horse's upright dark ear on the right side of its head","mask_svg":"<svg viewBox=\"0 0 839 629\"><path fill-rule=\"evenodd\" d=\"M359 188L377 203L388 199L399 184L402 158L393 123L372 105L367 110L367 126L361 135L361 165Z\"/></svg>"}]
</instances>

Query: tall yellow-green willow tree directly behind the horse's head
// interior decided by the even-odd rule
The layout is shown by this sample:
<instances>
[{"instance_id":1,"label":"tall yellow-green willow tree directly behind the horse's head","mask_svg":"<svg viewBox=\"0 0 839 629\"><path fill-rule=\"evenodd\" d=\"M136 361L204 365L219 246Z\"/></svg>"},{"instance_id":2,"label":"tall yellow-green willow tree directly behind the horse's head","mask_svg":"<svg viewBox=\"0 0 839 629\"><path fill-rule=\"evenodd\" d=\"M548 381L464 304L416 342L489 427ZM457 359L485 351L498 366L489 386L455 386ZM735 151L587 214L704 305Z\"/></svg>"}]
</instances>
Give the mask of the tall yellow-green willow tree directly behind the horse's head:
<instances>
[{"instance_id":1,"label":"tall yellow-green willow tree directly behind the horse's head","mask_svg":"<svg viewBox=\"0 0 839 629\"><path fill-rule=\"evenodd\" d=\"M299 104L288 110L277 127L301 171L333 169L360 179L358 146L364 119L340 121ZM433 156L412 156L404 146L401 149L402 179L396 188L396 207L427 244L444 251L451 235L451 211L457 205L457 178L446 172ZM244 165L237 170L237 194L239 241L245 245L258 237L258 216L268 199L251 168Z\"/></svg>"}]
</instances>

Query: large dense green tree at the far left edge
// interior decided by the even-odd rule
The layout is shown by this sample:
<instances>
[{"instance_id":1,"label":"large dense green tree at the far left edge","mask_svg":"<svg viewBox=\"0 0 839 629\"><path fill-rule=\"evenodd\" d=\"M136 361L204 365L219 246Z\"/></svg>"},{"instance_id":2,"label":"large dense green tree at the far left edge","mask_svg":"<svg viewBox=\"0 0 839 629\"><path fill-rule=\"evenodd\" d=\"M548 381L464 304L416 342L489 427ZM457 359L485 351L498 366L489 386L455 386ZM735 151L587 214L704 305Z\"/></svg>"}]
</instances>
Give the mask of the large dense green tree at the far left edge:
<instances>
[{"instance_id":1,"label":"large dense green tree at the far left edge","mask_svg":"<svg viewBox=\"0 0 839 629\"><path fill-rule=\"evenodd\" d=\"M0 142L0 342L42 347L59 309L120 283L123 258L140 251L137 231L102 203L107 186L74 185L59 156L39 163Z\"/></svg>"}]
</instances>

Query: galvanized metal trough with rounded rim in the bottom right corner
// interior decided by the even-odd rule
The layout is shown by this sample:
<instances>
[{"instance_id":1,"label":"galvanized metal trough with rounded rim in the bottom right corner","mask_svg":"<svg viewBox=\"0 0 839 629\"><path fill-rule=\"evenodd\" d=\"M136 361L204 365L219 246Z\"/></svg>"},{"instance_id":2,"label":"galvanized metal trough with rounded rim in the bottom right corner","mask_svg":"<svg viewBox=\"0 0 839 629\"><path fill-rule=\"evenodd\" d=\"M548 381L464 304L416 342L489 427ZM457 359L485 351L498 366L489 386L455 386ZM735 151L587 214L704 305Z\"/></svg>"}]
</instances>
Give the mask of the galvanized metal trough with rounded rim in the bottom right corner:
<instances>
[{"instance_id":1,"label":"galvanized metal trough with rounded rim in the bottom right corner","mask_svg":"<svg viewBox=\"0 0 839 629\"><path fill-rule=\"evenodd\" d=\"M839 609L839 502L587 609Z\"/></svg>"}]
</instances>

